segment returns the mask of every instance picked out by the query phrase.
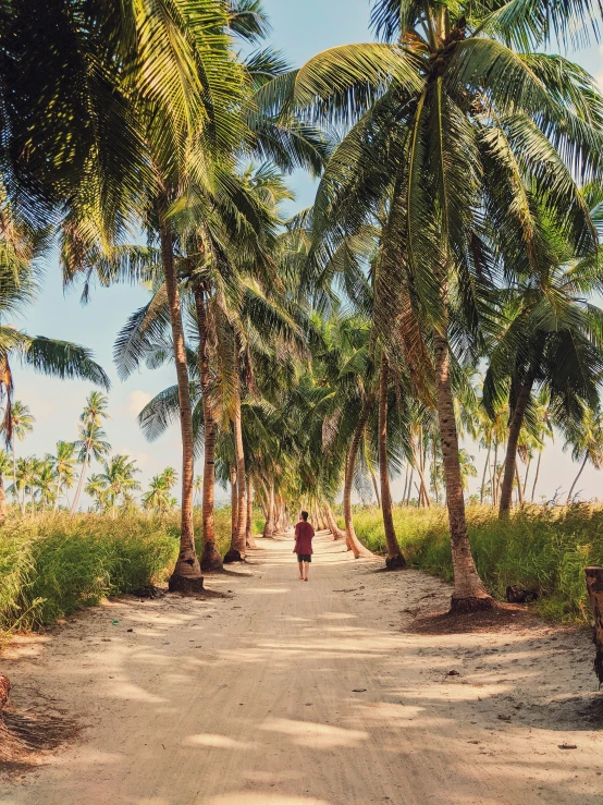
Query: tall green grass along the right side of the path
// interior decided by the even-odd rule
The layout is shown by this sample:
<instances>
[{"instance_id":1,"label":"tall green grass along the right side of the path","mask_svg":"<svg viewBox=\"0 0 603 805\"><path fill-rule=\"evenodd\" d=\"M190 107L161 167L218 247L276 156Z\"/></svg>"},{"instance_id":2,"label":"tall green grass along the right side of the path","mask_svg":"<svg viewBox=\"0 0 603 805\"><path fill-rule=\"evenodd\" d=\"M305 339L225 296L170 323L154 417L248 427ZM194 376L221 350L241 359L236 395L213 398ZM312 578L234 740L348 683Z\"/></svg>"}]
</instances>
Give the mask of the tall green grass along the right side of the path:
<instances>
[{"instance_id":1,"label":"tall green grass along the right side of the path","mask_svg":"<svg viewBox=\"0 0 603 805\"><path fill-rule=\"evenodd\" d=\"M490 507L469 507L467 520L479 573L495 596L504 599L509 584L538 589L541 614L590 621L583 569L603 564L603 508L532 507L502 523ZM394 522L409 563L452 581L446 511L396 508ZM384 552L379 509L357 508L354 524L365 545Z\"/></svg>"}]
</instances>

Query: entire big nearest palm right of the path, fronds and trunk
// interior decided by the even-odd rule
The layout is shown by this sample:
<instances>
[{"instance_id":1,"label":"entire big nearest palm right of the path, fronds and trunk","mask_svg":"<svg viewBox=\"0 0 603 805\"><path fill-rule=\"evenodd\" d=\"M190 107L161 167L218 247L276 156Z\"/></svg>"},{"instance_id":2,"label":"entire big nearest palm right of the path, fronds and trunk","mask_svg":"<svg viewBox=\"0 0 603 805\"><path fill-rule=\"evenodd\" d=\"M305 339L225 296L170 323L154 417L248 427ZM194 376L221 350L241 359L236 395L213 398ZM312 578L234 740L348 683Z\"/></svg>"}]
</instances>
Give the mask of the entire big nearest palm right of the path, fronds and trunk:
<instances>
[{"instance_id":1,"label":"entire big nearest palm right of the path, fronds and trunk","mask_svg":"<svg viewBox=\"0 0 603 805\"><path fill-rule=\"evenodd\" d=\"M563 5L543 16L513 4L502 13L464 2L453 9L377 0L372 19L384 44L331 49L258 93L272 110L312 106L319 120L353 120L317 194L318 258L320 244L332 249L392 202L399 259L380 270L386 293L376 321L391 329L410 285L433 346L457 611L494 601L467 534L451 333L462 322L478 332L497 255L507 271L533 257L524 180L546 187L550 219L581 255L596 248L570 167L601 173L599 97L590 76L567 60L526 52L568 29L569 20L579 26L589 9Z\"/></svg>"}]
</instances>

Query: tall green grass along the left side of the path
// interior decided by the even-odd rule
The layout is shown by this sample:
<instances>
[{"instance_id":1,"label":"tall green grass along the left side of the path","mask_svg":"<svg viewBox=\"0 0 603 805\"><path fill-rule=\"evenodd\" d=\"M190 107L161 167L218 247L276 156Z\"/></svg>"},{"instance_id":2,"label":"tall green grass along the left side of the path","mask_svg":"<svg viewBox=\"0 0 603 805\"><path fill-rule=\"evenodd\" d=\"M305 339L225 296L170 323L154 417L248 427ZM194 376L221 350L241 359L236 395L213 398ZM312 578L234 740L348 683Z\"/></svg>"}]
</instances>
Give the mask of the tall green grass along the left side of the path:
<instances>
[{"instance_id":1,"label":"tall green grass along the left side of the path","mask_svg":"<svg viewBox=\"0 0 603 805\"><path fill-rule=\"evenodd\" d=\"M216 512L218 547L230 544L230 510ZM200 513L195 515L197 548ZM109 595L165 581L179 551L179 514L11 515L0 530L0 633L32 630Z\"/></svg>"}]
</instances>

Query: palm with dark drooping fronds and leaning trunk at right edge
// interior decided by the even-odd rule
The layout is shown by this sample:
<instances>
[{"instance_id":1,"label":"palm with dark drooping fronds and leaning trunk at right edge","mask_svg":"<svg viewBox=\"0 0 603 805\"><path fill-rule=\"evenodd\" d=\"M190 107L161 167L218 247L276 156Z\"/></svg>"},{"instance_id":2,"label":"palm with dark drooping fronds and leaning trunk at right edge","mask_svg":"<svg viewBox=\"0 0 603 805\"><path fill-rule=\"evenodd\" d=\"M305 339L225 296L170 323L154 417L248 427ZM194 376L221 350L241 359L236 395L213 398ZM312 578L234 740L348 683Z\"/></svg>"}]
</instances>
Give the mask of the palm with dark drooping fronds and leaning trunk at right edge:
<instances>
[{"instance_id":1,"label":"palm with dark drooping fronds and leaning trunk at right edge","mask_svg":"<svg viewBox=\"0 0 603 805\"><path fill-rule=\"evenodd\" d=\"M528 188L526 193L529 195ZM593 217L596 202L599 198ZM490 352L484 382L489 413L493 413L493 399L502 401L505 395L510 410L501 517L510 510L519 435L532 405L532 389L549 390L557 416L579 418L582 403L598 402L603 368L603 312L584 298L599 283L596 256L576 260L558 228L541 220L536 200L532 208L541 232L534 245L536 270L503 292L502 336Z\"/></svg>"}]
</instances>

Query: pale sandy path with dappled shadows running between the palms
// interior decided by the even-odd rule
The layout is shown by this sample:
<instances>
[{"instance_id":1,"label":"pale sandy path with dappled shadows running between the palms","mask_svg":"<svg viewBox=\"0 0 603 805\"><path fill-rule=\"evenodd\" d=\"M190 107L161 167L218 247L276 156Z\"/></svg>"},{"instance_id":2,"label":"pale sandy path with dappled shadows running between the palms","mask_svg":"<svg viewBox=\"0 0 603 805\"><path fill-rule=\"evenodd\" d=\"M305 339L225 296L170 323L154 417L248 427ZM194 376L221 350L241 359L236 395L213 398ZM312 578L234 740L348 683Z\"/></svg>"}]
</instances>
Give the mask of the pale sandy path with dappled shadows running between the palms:
<instances>
[{"instance_id":1,"label":"pale sandy path with dappled shadows running between the palms","mask_svg":"<svg viewBox=\"0 0 603 805\"><path fill-rule=\"evenodd\" d=\"M41 692L85 729L0 803L603 803L587 635L405 633L445 585L317 541L309 584L283 539L212 580L232 598L111 602L11 644L16 705Z\"/></svg>"}]
</instances>

